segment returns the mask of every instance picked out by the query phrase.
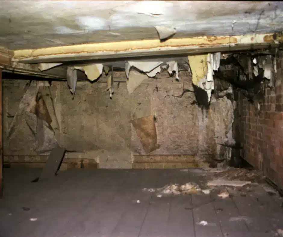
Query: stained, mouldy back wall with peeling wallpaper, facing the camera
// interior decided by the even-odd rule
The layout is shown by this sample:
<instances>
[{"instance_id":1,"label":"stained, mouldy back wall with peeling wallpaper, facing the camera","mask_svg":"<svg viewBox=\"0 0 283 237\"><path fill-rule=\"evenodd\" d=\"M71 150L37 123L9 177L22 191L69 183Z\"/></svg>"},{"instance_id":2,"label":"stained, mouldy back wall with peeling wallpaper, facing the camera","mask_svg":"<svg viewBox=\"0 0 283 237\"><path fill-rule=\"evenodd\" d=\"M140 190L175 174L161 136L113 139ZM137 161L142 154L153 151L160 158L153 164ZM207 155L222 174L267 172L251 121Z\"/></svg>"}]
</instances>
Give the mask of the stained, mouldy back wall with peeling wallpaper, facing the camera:
<instances>
[{"instance_id":1,"label":"stained, mouldy back wall with peeling wallpaper, facing the camera","mask_svg":"<svg viewBox=\"0 0 283 237\"><path fill-rule=\"evenodd\" d=\"M207 167L229 158L231 149L223 150L219 144L227 139L233 122L232 102L226 97L212 98L210 109L203 111L194 103L191 76L184 71L179 76L176 82L162 72L129 94L125 73L115 72L112 100L105 76L99 83L78 82L74 100L66 82L52 82L49 92L43 87L43 97L51 94L54 103L55 138L68 151L64 162L72 167L96 162L100 168L188 168ZM25 84L4 80L4 152L10 163L46 160L35 151L36 140L25 119L19 120L15 132L7 137ZM182 94L184 89L189 91ZM146 154L131 121L151 115L157 149Z\"/></svg>"}]
</instances>

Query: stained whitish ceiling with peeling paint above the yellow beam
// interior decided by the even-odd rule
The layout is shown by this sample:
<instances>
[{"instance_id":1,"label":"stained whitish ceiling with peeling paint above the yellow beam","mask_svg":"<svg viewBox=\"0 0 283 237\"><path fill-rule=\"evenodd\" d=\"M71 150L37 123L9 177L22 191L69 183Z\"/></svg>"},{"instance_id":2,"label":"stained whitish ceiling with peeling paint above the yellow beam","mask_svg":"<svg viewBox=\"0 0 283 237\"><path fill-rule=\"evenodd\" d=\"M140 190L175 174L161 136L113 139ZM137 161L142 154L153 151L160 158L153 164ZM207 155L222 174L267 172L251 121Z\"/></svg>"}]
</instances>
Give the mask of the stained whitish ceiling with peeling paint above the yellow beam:
<instances>
[{"instance_id":1,"label":"stained whitish ceiling with peeling paint above the yellow beam","mask_svg":"<svg viewBox=\"0 0 283 237\"><path fill-rule=\"evenodd\" d=\"M280 32L283 2L0 1L0 46L11 50L158 39Z\"/></svg>"}]
</instances>

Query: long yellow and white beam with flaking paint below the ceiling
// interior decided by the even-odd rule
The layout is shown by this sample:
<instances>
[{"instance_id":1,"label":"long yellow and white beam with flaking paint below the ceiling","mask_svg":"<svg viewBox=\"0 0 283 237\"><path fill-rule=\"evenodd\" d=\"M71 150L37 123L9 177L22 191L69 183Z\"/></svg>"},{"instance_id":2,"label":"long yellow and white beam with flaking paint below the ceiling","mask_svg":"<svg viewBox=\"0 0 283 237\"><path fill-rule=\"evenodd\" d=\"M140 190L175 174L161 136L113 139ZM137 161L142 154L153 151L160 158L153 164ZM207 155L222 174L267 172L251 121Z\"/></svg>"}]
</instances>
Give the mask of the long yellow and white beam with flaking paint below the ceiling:
<instances>
[{"instance_id":1,"label":"long yellow and white beam with flaking paint below the ceiling","mask_svg":"<svg viewBox=\"0 0 283 237\"><path fill-rule=\"evenodd\" d=\"M282 40L280 34L237 36L204 36L172 38L165 42L157 39L122 41L14 51L13 61L48 63L73 60L104 60L172 54L203 54L217 51L238 51L268 48Z\"/></svg>"}]
</instances>

